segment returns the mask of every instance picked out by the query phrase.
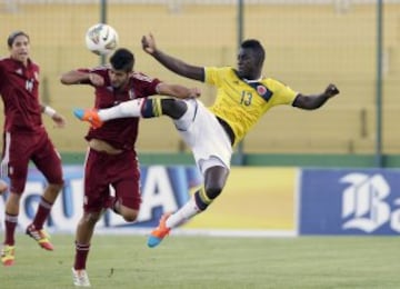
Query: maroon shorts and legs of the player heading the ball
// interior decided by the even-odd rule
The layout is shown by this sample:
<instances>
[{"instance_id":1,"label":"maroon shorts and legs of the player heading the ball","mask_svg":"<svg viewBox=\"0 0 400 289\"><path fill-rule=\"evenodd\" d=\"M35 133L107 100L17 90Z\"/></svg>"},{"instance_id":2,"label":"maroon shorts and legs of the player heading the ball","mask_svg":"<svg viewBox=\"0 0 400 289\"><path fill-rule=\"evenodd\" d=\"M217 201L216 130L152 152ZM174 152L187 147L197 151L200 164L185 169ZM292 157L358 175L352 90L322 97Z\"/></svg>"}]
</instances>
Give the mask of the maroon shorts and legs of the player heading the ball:
<instances>
[{"instance_id":1,"label":"maroon shorts and legs of the player heading the ball","mask_svg":"<svg viewBox=\"0 0 400 289\"><path fill-rule=\"evenodd\" d=\"M141 203L140 171L132 151L104 156L91 149L84 168L83 216L76 233L76 255L72 267L74 286L90 286L87 260L96 223L107 209L120 215L127 222L137 220ZM110 173L110 171L112 173ZM112 175L112 177L109 177ZM114 196L110 195L110 186Z\"/></svg>"}]
</instances>

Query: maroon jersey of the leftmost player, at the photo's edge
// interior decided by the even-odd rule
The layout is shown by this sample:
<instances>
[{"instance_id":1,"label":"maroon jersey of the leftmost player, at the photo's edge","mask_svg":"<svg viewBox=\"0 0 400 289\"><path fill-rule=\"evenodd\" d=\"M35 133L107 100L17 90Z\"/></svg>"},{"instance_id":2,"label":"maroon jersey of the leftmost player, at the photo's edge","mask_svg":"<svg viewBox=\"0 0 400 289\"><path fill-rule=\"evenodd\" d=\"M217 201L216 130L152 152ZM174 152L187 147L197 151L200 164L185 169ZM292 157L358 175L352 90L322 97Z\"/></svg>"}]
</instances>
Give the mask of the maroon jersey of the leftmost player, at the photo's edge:
<instances>
[{"instance_id":1,"label":"maroon jersey of the leftmost player, at the photo's edge","mask_svg":"<svg viewBox=\"0 0 400 289\"><path fill-rule=\"evenodd\" d=\"M43 130L39 102L39 66L11 58L0 59L0 94L4 102L4 131Z\"/></svg>"}]
</instances>

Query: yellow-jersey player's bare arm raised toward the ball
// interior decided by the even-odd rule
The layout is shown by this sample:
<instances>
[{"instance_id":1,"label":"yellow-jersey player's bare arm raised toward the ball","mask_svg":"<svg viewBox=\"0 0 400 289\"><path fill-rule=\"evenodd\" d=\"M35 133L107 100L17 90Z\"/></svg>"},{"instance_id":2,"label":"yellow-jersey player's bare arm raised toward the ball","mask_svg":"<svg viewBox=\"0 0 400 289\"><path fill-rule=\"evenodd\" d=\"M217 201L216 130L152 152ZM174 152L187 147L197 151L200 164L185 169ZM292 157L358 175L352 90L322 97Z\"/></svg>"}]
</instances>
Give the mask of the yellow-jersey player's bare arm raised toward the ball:
<instances>
[{"instance_id":1,"label":"yellow-jersey player's bare arm raised toward the ball","mask_svg":"<svg viewBox=\"0 0 400 289\"><path fill-rule=\"evenodd\" d=\"M142 37L142 48L169 70L186 78L204 81L204 69L202 67L188 64L180 59L160 51L157 49L154 38L151 33Z\"/></svg>"}]
</instances>

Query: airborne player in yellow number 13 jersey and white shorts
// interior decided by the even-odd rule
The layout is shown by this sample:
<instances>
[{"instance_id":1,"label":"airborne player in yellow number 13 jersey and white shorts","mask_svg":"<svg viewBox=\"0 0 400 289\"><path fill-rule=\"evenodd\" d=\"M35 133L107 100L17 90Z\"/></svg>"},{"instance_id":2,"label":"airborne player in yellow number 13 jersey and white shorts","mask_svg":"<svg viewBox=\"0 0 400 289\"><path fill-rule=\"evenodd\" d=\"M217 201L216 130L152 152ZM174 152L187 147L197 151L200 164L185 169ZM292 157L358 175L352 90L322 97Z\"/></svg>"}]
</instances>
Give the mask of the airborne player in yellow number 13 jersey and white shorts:
<instances>
[{"instance_id":1,"label":"airborne player in yellow number 13 jersey and white shorts","mask_svg":"<svg viewBox=\"0 0 400 289\"><path fill-rule=\"evenodd\" d=\"M221 193L229 171L233 148L258 120L272 107L288 104L312 110L322 107L339 90L329 84L323 92L306 96L261 74L266 58L258 40L246 40L238 53L238 67L198 67L173 58L156 46L152 34L142 38L146 52L173 72L217 87L214 103L206 108L198 99L138 99L103 110L76 110L76 116L93 127L103 121L124 118L169 116L179 133L191 148L203 175L203 187L194 192L174 213L164 213L148 246L156 247L176 228L204 211Z\"/></svg>"}]
</instances>

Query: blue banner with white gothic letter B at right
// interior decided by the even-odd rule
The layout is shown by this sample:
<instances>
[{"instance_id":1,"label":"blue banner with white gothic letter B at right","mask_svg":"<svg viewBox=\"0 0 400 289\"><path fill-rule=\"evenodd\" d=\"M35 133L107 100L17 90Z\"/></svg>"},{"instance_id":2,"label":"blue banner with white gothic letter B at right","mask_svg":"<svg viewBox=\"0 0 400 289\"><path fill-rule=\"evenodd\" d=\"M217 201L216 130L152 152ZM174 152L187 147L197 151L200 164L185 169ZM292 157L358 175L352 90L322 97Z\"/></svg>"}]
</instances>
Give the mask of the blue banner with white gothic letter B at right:
<instances>
[{"instance_id":1,"label":"blue banner with white gothic letter B at right","mask_svg":"<svg viewBox=\"0 0 400 289\"><path fill-rule=\"evenodd\" d=\"M400 171L304 169L299 232L398 235Z\"/></svg>"}]
</instances>

